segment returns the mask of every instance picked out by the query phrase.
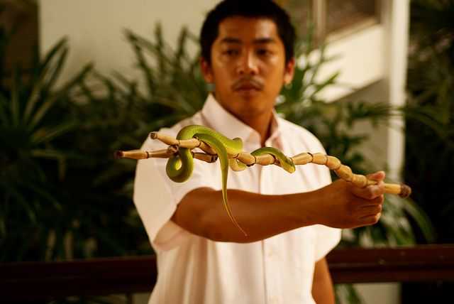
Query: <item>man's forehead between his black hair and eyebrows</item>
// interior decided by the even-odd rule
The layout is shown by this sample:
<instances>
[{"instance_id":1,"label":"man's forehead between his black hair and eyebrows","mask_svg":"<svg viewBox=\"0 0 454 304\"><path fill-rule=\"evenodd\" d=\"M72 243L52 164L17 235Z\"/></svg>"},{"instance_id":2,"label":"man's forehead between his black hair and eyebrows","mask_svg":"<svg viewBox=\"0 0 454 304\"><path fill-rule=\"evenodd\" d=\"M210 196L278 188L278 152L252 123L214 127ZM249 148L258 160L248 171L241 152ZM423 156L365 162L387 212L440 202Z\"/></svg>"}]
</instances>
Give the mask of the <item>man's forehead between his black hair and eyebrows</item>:
<instances>
[{"instance_id":1,"label":"man's forehead between his black hair and eyebrows","mask_svg":"<svg viewBox=\"0 0 454 304\"><path fill-rule=\"evenodd\" d=\"M278 40L277 26L269 18L229 17L219 23L218 37L221 42Z\"/></svg>"}]
</instances>

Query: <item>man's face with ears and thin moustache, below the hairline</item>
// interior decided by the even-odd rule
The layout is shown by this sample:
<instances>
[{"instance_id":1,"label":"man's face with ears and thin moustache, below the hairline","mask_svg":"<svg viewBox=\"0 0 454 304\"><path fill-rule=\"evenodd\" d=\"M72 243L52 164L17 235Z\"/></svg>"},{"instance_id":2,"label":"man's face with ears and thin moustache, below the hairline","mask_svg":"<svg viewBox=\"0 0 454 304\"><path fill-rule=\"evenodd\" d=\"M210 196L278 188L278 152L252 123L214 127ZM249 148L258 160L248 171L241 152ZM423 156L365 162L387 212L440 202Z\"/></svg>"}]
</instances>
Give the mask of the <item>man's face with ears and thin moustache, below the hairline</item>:
<instances>
[{"instance_id":1,"label":"man's face with ears and thin moustache, below the hairline","mask_svg":"<svg viewBox=\"0 0 454 304\"><path fill-rule=\"evenodd\" d=\"M211 63L201 60L218 102L238 118L270 114L282 85L292 81L294 60L285 63L284 44L267 18L224 19L211 46Z\"/></svg>"}]
</instances>

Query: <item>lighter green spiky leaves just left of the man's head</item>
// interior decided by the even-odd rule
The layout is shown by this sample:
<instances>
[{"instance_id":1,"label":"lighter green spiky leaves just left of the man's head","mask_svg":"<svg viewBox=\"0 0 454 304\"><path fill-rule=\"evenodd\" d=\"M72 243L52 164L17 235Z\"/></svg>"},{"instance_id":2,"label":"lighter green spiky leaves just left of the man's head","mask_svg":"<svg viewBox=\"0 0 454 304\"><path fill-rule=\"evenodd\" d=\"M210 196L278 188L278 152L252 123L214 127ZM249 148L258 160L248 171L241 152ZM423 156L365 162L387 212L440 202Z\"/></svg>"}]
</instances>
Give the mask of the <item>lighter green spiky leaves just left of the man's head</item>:
<instances>
[{"instance_id":1,"label":"lighter green spiky leaves just left of the man's head","mask_svg":"<svg viewBox=\"0 0 454 304\"><path fill-rule=\"evenodd\" d=\"M208 91L199 70L199 55L190 55L187 50L188 43L196 42L187 28L182 28L175 50L162 38L160 24L155 27L154 41L131 31L126 31L125 36L134 50L143 80L131 82L119 74L116 80L123 85L123 94L132 92L133 83L143 84L142 90L135 90L129 97L156 107L148 118L158 119L147 126L147 131L169 126L203 107Z\"/></svg>"}]
</instances>

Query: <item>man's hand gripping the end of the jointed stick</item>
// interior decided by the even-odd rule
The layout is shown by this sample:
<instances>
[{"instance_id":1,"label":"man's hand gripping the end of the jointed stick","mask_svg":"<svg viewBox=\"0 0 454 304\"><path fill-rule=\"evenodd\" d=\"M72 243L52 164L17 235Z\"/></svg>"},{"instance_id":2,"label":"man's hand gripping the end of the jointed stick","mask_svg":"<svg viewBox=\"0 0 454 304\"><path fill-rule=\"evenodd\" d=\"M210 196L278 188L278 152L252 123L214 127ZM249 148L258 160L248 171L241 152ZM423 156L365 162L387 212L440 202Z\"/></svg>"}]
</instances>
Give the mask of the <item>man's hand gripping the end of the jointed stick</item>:
<instances>
[{"instance_id":1,"label":"man's hand gripping the end of the jointed stick","mask_svg":"<svg viewBox=\"0 0 454 304\"><path fill-rule=\"evenodd\" d=\"M384 172L367 175L367 178L377 180L377 185L358 188L345 180L336 180L321 188L320 204L316 206L317 222L336 228L376 224L382 215Z\"/></svg>"}]
</instances>

